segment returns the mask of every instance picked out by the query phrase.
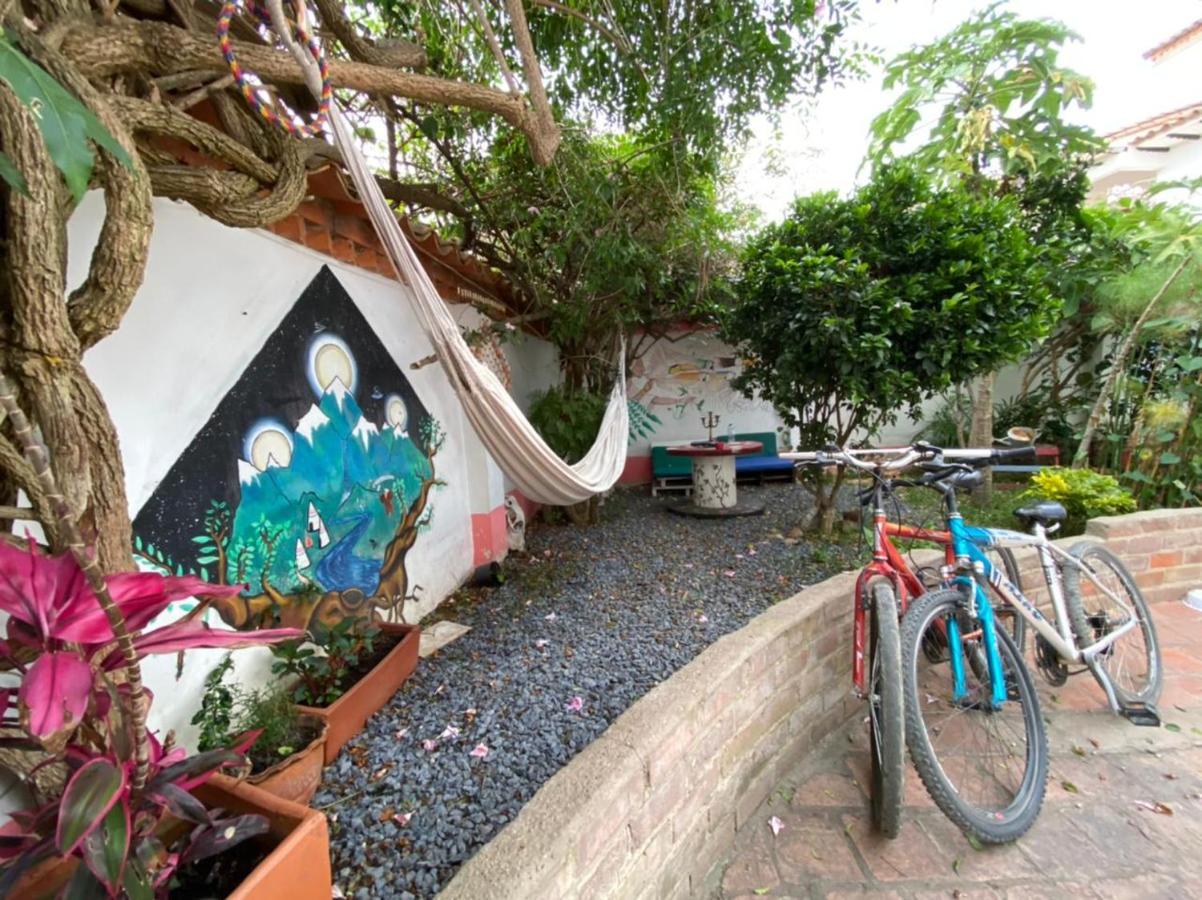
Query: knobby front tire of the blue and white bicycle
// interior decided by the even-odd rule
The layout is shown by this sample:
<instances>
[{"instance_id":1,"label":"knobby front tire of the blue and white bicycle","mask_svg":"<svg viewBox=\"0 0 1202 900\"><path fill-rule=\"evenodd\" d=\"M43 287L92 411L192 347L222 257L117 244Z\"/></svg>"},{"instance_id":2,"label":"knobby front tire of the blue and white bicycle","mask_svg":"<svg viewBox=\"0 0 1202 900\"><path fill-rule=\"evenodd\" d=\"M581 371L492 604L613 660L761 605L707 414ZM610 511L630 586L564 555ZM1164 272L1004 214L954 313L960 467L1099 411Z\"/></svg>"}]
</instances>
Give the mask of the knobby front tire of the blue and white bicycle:
<instances>
[{"instance_id":1,"label":"knobby front tire of the blue and white bicycle","mask_svg":"<svg viewBox=\"0 0 1202 900\"><path fill-rule=\"evenodd\" d=\"M1020 838L1035 824L1043 804L1048 773L1047 733L1043 727L1039 697L1035 693L1035 683L1027 666L1018 657L1018 650L1011 636L1004 628L996 630L998 649L1007 667L1007 681L1012 673L1018 702L1022 704L1020 719L1027 740L1023 752L1022 780L1013 792L1013 798L1004 809L978 809L965 799L963 788L958 788L946 771L945 763L948 762L948 758L945 757L944 763L941 763L936 755L923 714L924 709L942 703L940 698L928 695L926 685L920 684L918 666L920 661L926 660L922 652L923 634L941 616L951 614L966 618L965 609L964 594L958 589L946 589L923 595L906 612L902 622L906 741L910 746L910 757L914 759L915 768L918 770L927 792L935 805L944 811L944 815L966 835L976 838L983 844L1008 844ZM965 667L965 673L969 670L970 667ZM950 687L948 684L948 692ZM1011 702L1013 701L1007 701L1007 703ZM954 707L959 713L994 715L993 710L982 711L980 707L974 709L972 704L968 703L953 704L948 699L947 705ZM970 770L972 768L970 767ZM990 785L996 785L998 781L998 779L986 779L986 782Z\"/></svg>"}]
</instances>

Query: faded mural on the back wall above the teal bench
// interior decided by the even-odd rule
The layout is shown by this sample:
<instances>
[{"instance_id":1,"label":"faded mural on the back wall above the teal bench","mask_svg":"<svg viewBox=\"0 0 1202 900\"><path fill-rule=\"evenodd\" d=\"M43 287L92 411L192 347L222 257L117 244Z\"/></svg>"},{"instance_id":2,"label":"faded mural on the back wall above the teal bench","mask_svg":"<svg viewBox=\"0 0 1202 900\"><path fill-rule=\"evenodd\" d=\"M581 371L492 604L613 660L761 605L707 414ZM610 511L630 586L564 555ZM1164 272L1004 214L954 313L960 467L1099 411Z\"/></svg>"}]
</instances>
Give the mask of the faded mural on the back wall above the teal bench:
<instances>
[{"instance_id":1,"label":"faded mural on the back wall above the teal bench","mask_svg":"<svg viewBox=\"0 0 1202 900\"><path fill-rule=\"evenodd\" d=\"M709 347L660 341L630 366L626 393L630 398L630 440L647 440L665 419L683 419L686 412L740 410L748 404L731 387L738 374L738 359L725 345L721 352Z\"/></svg>"}]
</instances>

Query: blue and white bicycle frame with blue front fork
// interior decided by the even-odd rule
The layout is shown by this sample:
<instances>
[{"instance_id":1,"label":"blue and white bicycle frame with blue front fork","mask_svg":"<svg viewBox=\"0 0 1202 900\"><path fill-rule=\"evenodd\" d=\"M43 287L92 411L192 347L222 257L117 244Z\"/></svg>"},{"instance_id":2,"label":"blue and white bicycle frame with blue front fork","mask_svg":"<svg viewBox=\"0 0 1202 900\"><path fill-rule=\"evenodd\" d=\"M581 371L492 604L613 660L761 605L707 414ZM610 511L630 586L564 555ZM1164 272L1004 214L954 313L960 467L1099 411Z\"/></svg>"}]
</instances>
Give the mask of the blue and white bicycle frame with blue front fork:
<instances>
[{"instance_id":1,"label":"blue and white bicycle frame with blue front fork","mask_svg":"<svg viewBox=\"0 0 1202 900\"><path fill-rule=\"evenodd\" d=\"M1076 558L1048 541L1047 532L1042 525L1036 524L1030 535L1007 529L983 529L975 525L966 525L964 518L958 512L954 512L947 518L947 528L952 537L951 552L960 572L956 582L966 588L971 585L971 596L976 607L972 612L981 622L989 681L993 690L990 699L994 707L1000 707L1005 702L1006 685L1002 677L1001 656L998 651L998 634L993 606L986 596L980 579L988 580L998 596L1055 648L1061 658L1069 662L1090 664L1099 654L1103 652L1131 628L1138 626L1138 620L1133 615L1133 610L1120 597L1102 585L1094 573ZM1048 595L1052 600L1052 608L1057 620L1055 625L1048 621L1047 616L989 561L989 558L986 556L982 549L989 547L1006 547L1010 549L1023 547L1035 548L1040 558L1040 566L1043 570L1043 580L1048 586ZM1084 648L1078 646L1069 622L1069 613L1064 598L1064 583L1058 562L1060 565L1073 566L1078 572L1084 574L1097 590L1109 597L1126 613L1131 614L1130 620L1121 627L1106 634L1102 639ZM968 574L970 571L977 577L970 577ZM959 634L959 622L954 619L948 620L947 631L952 663L952 693L954 699L963 699L968 693L962 644L964 636Z\"/></svg>"}]
</instances>

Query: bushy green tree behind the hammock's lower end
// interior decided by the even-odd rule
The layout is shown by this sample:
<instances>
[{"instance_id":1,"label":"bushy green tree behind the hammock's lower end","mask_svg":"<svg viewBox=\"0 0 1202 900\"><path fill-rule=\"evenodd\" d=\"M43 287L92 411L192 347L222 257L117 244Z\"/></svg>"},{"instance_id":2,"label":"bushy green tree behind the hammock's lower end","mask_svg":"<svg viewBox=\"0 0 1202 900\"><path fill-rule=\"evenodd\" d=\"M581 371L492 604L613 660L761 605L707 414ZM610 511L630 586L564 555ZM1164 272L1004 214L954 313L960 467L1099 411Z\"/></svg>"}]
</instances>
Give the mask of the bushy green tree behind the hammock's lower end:
<instances>
[{"instance_id":1,"label":"bushy green tree behind the hammock's lower end","mask_svg":"<svg viewBox=\"0 0 1202 900\"><path fill-rule=\"evenodd\" d=\"M739 213L714 175L671 147L567 131L540 168L511 136L470 167L488 196L477 246L523 288L526 317L560 351L569 391L603 395L619 335L631 358L728 293Z\"/></svg>"}]
</instances>

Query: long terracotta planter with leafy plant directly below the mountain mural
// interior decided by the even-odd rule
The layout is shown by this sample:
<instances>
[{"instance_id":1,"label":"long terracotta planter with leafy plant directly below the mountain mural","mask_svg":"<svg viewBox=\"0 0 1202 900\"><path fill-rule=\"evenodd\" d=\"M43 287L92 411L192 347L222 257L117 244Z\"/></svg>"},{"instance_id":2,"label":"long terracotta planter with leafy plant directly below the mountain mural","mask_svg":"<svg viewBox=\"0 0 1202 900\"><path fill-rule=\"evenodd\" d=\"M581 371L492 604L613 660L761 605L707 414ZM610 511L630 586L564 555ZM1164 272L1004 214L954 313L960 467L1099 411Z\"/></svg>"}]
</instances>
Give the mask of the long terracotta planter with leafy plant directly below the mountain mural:
<instances>
[{"instance_id":1,"label":"long terracotta planter with leafy plant directly below the mountain mural","mask_svg":"<svg viewBox=\"0 0 1202 900\"><path fill-rule=\"evenodd\" d=\"M313 640L272 646L272 672L296 679L298 709L329 723L328 765L413 674L421 630L349 618L327 626L319 637L320 648Z\"/></svg>"}]
</instances>

